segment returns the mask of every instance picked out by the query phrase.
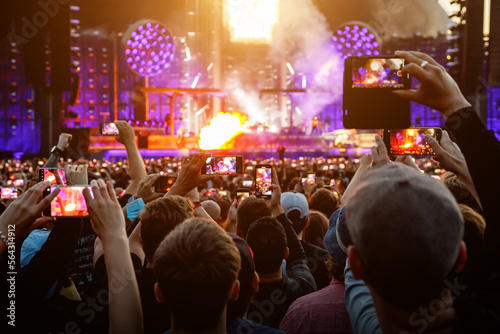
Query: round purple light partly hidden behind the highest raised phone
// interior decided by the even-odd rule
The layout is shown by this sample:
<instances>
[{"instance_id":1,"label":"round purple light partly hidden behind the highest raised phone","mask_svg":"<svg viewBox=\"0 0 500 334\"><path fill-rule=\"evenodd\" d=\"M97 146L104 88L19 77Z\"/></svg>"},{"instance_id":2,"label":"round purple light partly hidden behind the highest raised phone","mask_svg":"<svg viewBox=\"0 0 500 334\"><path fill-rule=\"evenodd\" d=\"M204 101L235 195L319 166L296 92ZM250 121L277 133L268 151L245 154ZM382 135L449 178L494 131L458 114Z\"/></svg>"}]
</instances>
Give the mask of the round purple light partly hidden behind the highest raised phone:
<instances>
[{"instance_id":1,"label":"round purple light partly hidden behind the highest raised phone","mask_svg":"<svg viewBox=\"0 0 500 334\"><path fill-rule=\"evenodd\" d=\"M352 21L341 25L334 31L334 49L347 57L380 55L380 37L368 24Z\"/></svg>"}]
</instances>

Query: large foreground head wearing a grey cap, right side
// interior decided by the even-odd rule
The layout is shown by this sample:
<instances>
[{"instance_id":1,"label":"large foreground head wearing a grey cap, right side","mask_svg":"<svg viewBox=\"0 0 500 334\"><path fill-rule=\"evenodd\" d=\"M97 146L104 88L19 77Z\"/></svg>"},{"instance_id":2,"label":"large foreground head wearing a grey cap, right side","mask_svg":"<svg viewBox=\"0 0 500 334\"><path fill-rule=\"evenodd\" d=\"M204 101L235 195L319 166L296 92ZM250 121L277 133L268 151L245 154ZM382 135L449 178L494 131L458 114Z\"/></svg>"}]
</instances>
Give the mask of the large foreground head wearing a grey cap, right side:
<instances>
[{"instance_id":1,"label":"large foreground head wearing a grey cap, right side","mask_svg":"<svg viewBox=\"0 0 500 334\"><path fill-rule=\"evenodd\" d=\"M453 195L403 164L371 169L355 188L346 218L353 275L380 302L403 310L427 305L465 264L463 218Z\"/></svg>"}]
</instances>

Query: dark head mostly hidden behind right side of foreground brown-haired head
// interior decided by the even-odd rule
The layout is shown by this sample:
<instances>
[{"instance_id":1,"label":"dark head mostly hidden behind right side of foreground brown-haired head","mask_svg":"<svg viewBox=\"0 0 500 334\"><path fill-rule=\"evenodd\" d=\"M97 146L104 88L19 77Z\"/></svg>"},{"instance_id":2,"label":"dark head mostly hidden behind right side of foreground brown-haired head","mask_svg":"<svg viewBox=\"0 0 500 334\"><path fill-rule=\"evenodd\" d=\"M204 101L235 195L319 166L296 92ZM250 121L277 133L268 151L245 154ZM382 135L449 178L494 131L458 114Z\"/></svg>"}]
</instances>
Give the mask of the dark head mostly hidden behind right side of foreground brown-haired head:
<instances>
[{"instance_id":1,"label":"dark head mostly hidden behind right side of foreground brown-haired head","mask_svg":"<svg viewBox=\"0 0 500 334\"><path fill-rule=\"evenodd\" d=\"M227 319L236 319L243 317L252 303L252 298L259 287L259 275L255 272L253 254L247 242L236 234L228 233L228 235L236 244L241 258L241 269L238 274L240 293L237 300L231 300L227 304Z\"/></svg>"}]
</instances>

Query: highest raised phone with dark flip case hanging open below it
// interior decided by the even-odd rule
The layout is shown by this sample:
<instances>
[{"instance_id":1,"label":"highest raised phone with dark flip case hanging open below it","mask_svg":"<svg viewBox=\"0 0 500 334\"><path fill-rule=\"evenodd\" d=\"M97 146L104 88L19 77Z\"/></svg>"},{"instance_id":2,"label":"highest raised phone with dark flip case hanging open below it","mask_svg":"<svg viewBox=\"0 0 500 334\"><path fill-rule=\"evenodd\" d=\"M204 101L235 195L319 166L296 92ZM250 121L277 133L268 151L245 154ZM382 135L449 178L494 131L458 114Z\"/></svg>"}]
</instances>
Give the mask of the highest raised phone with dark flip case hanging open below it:
<instances>
[{"instance_id":1,"label":"highest raised phone with dark flip case hanging open below it","mask_svg":"<svg viewBox=\"0 0 500 334\"><path fill-rule=\"evenodd\" d=\"M395 129L411 125L410 101L393 94L410 89L405 60L394 56L348 57L344 63L345 128Z\"/></svg>"}]
</instances>

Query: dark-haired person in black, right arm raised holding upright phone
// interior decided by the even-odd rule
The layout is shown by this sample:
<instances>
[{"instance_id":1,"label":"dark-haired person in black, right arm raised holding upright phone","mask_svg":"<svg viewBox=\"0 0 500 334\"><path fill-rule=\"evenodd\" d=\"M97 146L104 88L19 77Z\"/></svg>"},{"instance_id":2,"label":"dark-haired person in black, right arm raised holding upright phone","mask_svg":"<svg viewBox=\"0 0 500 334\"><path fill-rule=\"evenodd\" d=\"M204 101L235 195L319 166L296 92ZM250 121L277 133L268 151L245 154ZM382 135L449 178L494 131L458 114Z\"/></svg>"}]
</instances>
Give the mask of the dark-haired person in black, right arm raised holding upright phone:
<instances>
[{"instance_id":1,"label":"dark-haired person in black, right arm raised holding upright phone","mask_svg":"<svg viewBox=\"0 0 500 334\"><path fill-rule=\"evenodd\" d=\"M277 180L276 171L273 174L273 182L277 182L274 181ZM297 298L316 291L316 283L302 244L281 206L280 187L274 183L272 186L273 195L269 203L272 217L256 220L247 232L247 242L254 253L260 278L259 291L247 318L278 328L288 307ZM286 259L286 275L281 268L283 259Z\"/></svg>"}]
</instances>

